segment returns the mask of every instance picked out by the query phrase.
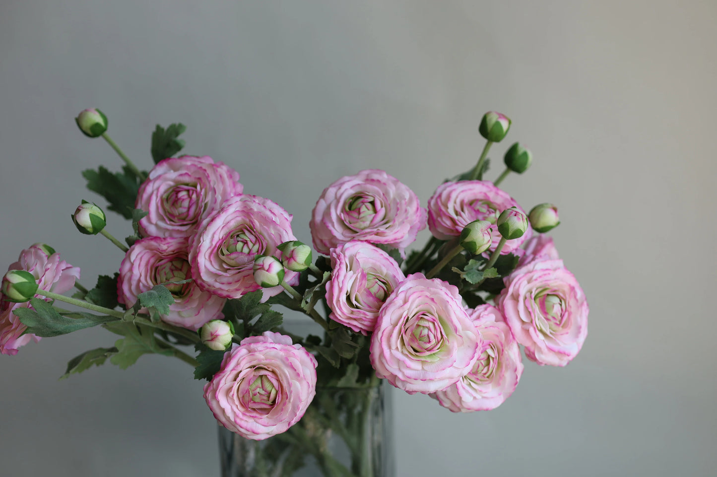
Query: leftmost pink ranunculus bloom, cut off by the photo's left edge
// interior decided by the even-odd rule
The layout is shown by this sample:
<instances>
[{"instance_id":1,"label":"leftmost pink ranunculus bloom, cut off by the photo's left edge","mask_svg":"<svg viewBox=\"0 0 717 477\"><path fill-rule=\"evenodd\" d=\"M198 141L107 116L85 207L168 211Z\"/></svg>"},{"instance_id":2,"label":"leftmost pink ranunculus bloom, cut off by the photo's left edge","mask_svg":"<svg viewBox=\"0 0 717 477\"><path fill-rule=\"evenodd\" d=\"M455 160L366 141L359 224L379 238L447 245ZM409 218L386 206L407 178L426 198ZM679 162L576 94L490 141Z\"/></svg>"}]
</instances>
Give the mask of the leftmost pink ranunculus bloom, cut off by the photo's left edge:
<instances>
[{"instance_id":1,"label":"leftmost pink ranunculus bloom, cut off by the photo's left edge","mask_svg":"<svg viewBox=\"0 0 717 477\"><path fill-rule=\"evenodd\" d=\"M25 270L37 279L41 290L54 293L65 293L75 286L75 280L80 278L80 268L73 267L65 260L60 260L60 254L54 252L47 245L36 243L20 252L18 261L12 263L8 270ZM49 301L49 298L43 298ZM39 341L39 336L34 334L23 334L27 329L20 322L20 318L12 311L17 308L29 307L28 303L10 304L2 299L0 303L3 310L0 313L0 353L17 354L17 349L29 341ZM10 306L11 305L11 306Z\"/></svg>"}]
</instances>

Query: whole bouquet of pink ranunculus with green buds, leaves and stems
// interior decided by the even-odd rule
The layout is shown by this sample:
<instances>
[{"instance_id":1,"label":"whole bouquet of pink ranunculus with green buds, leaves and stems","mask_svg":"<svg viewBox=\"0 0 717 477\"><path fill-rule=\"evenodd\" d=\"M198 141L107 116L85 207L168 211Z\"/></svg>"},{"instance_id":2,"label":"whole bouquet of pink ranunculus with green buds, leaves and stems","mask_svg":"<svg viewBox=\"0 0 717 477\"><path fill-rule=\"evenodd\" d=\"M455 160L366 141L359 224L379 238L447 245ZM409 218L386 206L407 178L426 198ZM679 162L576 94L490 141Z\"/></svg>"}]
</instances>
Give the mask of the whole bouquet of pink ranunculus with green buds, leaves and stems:
<instances>
[{"instance_id":1,"label":"whole bouquet of pink ranunculus with green buds, leaves and stems","mask_svg":"<svg viewBox=\"0 0 717 477\"><path fill-rule=\"evenodd\" d=\"M293 235L292 215L280 204L243 193L237 171L207 156L177 157L184 125L157 126L155 164L146 172L108 136L100 110L84 110L76 121L125 162L120 171L100 166L82 175L133 233L122 242L98 205L77 207L77 230L104 235L125 252L90 289L49 245L23 250L2 278L2 354L103 326L120 336L114 346L71 359L65 376L107 362L126 368L142 354L175 356L207 380L206 404L224 428L250 440L302 441L283 457L288 468L313 454L326 475L348 476L307 442L309 420L336 421L326 405L310 413L318 388L386 379L452 412L491 410L516 389L521 346L533 362L564 366L587 336L584 293L543 235L559 224L556 207L526 213L498 187L528 169L531 152L513 143L503 173L483 179L490 147L511 127L503 114L483 116L478 163L438 185L427 208L379 169L329 184L313 208L313 248ZM408 253L425 227L430 239ZM278 307L304 313L321 332L290 333ZM300 420L307 422L301 433ZM347 443L359 433L334 430Z\"/></svg>"}]
</instances>

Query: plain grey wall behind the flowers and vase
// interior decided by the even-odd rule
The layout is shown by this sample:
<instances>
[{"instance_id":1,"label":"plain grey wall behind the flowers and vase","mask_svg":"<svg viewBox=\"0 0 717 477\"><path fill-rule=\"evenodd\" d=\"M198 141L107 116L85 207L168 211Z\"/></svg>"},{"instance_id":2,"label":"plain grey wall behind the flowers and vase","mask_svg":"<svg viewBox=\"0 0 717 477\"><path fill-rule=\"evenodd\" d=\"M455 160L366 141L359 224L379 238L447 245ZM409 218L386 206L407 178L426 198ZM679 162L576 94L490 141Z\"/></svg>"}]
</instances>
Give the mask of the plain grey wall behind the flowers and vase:
<instances>
[{"instance_id":1,"label":"plain grey wall behind the flowers and vase","mask_svg":"<svg viewBox=\"0 0 717 477\"><path fill-rule=\"evenodd\" d=\"M714 475L716 21L710 0L0 0L0 264L45 241L87 285L118 268L68 217L94 199L80 170L119 166L77 131L83 108L103 108L143 166L153 126L186 123L186 151L234 166L305 241L323 187L361 169L425 204L500 110L535 156L505 189L558 204L590 334L564 369L527 363L492 412L396 390L399 476ZM114 215L108 227L128 235ZM144 356L57 381L113 340L89 330L0 357L0 475L218 475L186 364Z\"/></svg>"}]
</instances>

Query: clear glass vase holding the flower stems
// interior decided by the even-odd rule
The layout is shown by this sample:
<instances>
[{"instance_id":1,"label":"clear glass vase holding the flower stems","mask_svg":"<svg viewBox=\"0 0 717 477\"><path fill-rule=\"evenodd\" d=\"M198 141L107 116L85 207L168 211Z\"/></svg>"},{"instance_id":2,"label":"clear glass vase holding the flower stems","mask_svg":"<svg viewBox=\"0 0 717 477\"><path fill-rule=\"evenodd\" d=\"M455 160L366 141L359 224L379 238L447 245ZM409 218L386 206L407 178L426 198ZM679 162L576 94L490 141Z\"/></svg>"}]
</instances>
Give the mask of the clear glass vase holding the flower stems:
<instances>
[{"instance_id":1,"label":"clear glass vase holding the flower stems","mask_svg":"<svg viewBox=\"0 0 717 477\"><path fill-rule=\"evenodd\" d=\"M320 387L285 433L249 440L219 426L222 477L394 477L388 389Z\"/></svg>"}]
</instances>

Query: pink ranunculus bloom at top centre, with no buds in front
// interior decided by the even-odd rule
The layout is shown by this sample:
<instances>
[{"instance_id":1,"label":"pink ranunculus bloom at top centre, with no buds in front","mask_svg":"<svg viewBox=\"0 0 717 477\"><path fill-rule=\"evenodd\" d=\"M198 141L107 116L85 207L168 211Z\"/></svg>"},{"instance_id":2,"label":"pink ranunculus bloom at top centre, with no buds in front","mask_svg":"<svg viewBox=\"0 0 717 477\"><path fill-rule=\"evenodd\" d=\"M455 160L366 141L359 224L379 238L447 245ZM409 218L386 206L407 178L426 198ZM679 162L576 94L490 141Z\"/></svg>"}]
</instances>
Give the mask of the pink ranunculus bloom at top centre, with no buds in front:
<instances>
[{"instance_id":1,"label":"pink ranunculus bloom at top centre, with no buds in front","mask_svg":"<svg viewBox=\"0 0 717 477\"><path fill-rule=\"evenodd\" d=\"M342 243L363 240L396 247L404 256L426 227L426 209L398 179L367 169L324 189L309 226L314 248L324 255Z\"/></svg>"}]
</instances>

